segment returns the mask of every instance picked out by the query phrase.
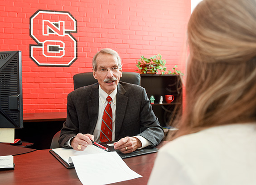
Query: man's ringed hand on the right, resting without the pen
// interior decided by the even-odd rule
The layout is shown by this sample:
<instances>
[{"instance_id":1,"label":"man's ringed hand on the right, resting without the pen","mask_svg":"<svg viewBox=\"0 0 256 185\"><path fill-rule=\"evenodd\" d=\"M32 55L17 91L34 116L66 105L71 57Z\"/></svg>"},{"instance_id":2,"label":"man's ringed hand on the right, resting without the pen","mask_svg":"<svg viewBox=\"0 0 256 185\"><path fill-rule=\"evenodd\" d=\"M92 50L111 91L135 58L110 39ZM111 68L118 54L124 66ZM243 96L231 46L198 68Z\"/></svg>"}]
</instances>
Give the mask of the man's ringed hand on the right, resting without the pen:
<instances>
[{"instance_id":1,"label":"man's ringed hand on the right, resting without the pen","mask_svg":"<svg viewBox=\"0 0 256 185\"><path fill-rule=\"evenodd\" d=\"M121 153L131 153L142 146L140 139L136 137L125 137L114 143L115 150Z\"/></svg>"}]
</instances>

